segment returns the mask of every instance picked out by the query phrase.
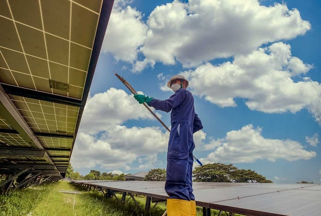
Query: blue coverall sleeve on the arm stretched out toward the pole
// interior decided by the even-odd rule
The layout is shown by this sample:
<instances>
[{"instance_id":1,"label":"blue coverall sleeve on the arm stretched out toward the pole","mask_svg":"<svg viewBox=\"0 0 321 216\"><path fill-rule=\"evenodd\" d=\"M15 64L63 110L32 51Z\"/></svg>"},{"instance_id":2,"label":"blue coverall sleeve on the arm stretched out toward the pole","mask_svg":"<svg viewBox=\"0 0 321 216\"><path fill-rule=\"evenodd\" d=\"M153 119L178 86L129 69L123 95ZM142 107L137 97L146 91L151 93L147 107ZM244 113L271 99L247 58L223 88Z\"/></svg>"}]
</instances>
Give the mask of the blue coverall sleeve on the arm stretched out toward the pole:
<instances>
[{"instance_id":1,"label":"blue coverall sleeve on the arm stretched out toward the pole","mask_svg":"<svg viewBox=\"0 0 321 216\"><path fill-rule=\"evenodd\" d=\"M152 99L147 104L150 107L155 108L156 110L162 110L164 112L170 112L173 108L179 106L186 97L186 90L179 89L167 100L157 100Z\"/></svg>"}]
</instances>

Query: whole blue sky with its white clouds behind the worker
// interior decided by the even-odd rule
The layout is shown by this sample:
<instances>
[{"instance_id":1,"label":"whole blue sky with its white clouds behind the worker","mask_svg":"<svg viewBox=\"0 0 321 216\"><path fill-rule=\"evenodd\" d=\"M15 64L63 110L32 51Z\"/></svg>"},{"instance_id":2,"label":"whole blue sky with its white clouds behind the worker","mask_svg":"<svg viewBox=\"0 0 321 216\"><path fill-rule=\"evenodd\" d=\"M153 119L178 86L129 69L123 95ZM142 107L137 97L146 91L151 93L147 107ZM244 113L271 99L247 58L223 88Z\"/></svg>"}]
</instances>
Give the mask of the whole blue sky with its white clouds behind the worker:
<instances>
[{"instance_id":1,"label":"whole blue sky with its white clouds behind the worker","mask_svg":"<svg viewBox=\"0 0 321 216\"><path fill-rule=\"evenodd\" d=\"M71 164L85 175L166 168L169 133L115 77L167 99L190 80L203 164L277 183L321 179L321 3L115 1ZM170 114L155 111L170 126ZM195 163L197 166L198 164Z\"/></svg>"}]
</instances>

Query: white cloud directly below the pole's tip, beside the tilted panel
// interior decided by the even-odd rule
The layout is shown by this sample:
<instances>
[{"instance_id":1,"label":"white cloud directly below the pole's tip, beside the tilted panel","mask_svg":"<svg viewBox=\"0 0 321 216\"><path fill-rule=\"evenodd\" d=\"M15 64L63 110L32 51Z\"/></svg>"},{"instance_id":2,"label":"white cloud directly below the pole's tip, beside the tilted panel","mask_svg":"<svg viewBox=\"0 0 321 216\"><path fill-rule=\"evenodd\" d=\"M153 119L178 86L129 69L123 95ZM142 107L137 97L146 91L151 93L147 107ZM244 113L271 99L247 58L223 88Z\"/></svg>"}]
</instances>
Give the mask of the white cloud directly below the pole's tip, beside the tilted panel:
<instances>
[{"instance_id":1,"label":"white cloud directly below the pole's tip, beside the tilted panel","mask_svg":"<svg viewBox=\"0 0 321 216\"><path fill-rule=\"evenodd\" d=\"M159 113L157 116L161 117ZM87 99L79 131L96 134L122 124L128 119L138 118L154 119L144 106L137 103L133 95L110 88Z\"/></svg>"}]
</instances>

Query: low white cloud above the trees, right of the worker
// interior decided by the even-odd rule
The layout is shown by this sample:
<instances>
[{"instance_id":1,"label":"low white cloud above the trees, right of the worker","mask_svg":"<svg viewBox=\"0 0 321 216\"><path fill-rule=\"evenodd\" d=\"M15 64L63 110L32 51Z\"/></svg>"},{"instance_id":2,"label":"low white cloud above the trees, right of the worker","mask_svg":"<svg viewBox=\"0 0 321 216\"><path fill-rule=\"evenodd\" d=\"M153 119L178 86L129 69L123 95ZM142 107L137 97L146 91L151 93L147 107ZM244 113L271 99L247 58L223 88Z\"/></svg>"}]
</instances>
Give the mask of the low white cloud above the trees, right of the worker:
<instances>
[{"instance_id":1,"label":"low white cloud above the trees, right of the worker","mask_svg":"<svg viewBox=\"0 0 321 216\"><path fill-rule=\"evenodd\" d=\"M261 128L246 125L240 130L232 130L224 139L216 140L217 148L204 159L207 162L254 162L259 159L288 161L316 156L314 151L306 151L303 146L292 140L267 139L261 135ZM210 144L211 145L211 144ZM207 149L205 147L205 149Z\"/></svg>"}]
</instances>

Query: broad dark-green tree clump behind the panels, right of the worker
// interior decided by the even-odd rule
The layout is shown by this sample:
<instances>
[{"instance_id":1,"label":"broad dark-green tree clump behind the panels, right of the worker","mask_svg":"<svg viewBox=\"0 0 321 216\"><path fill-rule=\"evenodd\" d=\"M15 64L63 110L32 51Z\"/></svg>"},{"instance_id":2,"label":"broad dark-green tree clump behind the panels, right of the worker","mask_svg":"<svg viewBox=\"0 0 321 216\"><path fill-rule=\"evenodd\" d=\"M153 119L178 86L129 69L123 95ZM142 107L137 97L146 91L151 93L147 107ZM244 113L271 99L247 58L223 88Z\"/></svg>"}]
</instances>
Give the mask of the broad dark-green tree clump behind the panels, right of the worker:
<instances>
[{"instance_id":1,"label":"broad dark-green tree clump behind the panels, right of the worker","mask_svg":"<svg viewBox=\"0 0 321 216\"><path fill-rule=\"evenodd\" d=\"M195 181L205 182L261 182L270 183L264 176L250 169L238 169L233 164L212 163L195 167Z\"/></svg>"}]
</instances>

